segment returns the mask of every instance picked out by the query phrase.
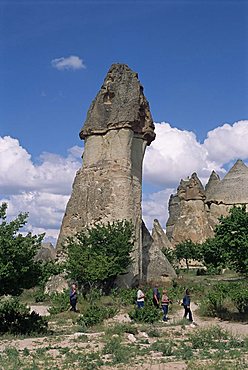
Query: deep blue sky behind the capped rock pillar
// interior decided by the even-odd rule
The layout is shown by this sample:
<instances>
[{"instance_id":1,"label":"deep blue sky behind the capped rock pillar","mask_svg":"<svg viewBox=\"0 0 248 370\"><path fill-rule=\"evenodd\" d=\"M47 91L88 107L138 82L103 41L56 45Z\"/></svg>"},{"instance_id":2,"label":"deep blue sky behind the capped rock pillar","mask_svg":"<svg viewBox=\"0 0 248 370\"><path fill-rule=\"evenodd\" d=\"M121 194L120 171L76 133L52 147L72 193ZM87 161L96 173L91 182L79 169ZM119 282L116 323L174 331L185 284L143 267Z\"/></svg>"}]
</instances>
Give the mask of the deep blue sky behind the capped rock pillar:
<instances>
[{"instance_id":1,"label":"deep blue sky behind the capped rock pillar","mask_svg":"<svg viewBox=\"0 0 248 370\"><path fill-rule=\"evenodd\" d=\"M74 65L73 68L58 69L52 64L56 59L67 60L70 56L76 56L82 68L75 69ZM206 158L199 156L196 150L194 156L205 160L204 165L196 164L190 157L187 170L199 171L204 167L205 172L200 174L204 178L211 166L215 165L224 173L237 157L247 160L245 144L239 143L241 136L243 139L248 137L247 1L2 0L0 136L18 140L15 145L13 141L4 140L2 148L5 153L9 153L13 145L17 151L23 148L27 154L20 149L25 154L24 161L30 161L32 171L39 169L39 176L41 166L56 163L59 167L64 161L63 168L68 166L71 170L70 180L65 185L68 188L53 188L53 194L68 196L70 192L72 174L80 165L78 147L83 147L78 133L113 62L126 63L138 72L154 121L170 123L175 146L172 145L170 155L167 155L168 151L162 154L165 162L158 171L166 173L166 163L174 158L173 153L179 158L177 155L182 148L180 146L176 153L179 137L180 143L185 144L184 149L189 145L189 151L192 151L194 145L198 148L204 144L209 132L214 132L212 137L215 139L221 137L222 143L226 141L223 132L229 132L229 140L236 135L237 148L227 157L223 155L225 148L218 158L212 154L208 157L208 165ZM242 125L234 127L238 121L242 121ZM214 131L224 124L229 126ZM166 131L168 126L162 128ZM230 131L234 135L230 136ZM189 139L188 132L193 132L195 139ZM162 137L161 134L157 151L163 152L166 138L162 141ZM219 143L215 141L216 145ZM207 143L204 146L208 154L209 147ZM29 159L28 155L31 156ZM145 169L149 167L152 155L150 150ZM221 156L225 160L220 160ZM21 174L10 176L10 171L18 172L14 159L11 166L7 166L6 155L4 158L7 175L0 194L2 199L10 200L10 211L14 214L18 207L14 205L13 196L37 194L37 191L44 194L49 187L44 175L38 190L34 181L32 186L25 188L21 185ZM146 173L144 192L149 201L166 189L169 194L185 175L183 171L175 170L173 179L161 182L156 180L157 174L149 176L149 170ZM6 180L8 176L9 182ZM46 190L42 189L41 183ZM11 193L6 188L15 190ZM21 205L27 203L23 201ZM32 208L30 212L32 217ZM56 222L54 225L58 228L60 221ZM42 221L39 227L42 228Z\"/></svg>"}]
</instances>

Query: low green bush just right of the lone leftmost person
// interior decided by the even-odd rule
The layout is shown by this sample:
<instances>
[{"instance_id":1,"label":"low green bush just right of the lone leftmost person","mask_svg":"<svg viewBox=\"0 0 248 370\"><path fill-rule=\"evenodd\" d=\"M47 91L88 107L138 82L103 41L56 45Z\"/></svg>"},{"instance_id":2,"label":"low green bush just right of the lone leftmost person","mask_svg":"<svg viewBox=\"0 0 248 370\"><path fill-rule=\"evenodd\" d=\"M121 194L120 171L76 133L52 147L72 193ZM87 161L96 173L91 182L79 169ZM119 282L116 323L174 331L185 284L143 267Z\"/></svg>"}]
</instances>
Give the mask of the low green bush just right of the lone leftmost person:
<instances>
[{"instance_id":1,"label":"low green bush just right of the lone leftmost person","mask_svg":"<svg viewBox=\"0 0 248 370\"><path fill-rule=\"evenodd\" d=\"M83 315L80 315L78 324L85 327L100 324L103 320L116 315L116 313L117 309L115 307L99 307L96 304L92 304Z\"/></svg>"}]
</instances>

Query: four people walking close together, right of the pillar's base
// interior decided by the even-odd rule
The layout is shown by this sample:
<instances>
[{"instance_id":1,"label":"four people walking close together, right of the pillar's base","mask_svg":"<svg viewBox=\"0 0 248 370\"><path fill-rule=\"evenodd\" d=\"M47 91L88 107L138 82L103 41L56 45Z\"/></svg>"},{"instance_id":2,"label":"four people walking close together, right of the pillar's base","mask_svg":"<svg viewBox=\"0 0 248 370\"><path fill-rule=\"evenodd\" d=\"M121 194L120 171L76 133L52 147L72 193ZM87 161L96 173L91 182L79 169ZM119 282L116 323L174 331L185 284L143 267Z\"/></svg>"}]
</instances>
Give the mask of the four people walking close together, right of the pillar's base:
<instances>
[{"instance_id":1,"label":"four people walking close together, right of the pillar's base","mask_svg":"<svg viewBox=\"0 0 248 370\"><path fill-rule=\"evenodd\" d=\"M143 308L145 306L145 294L141 289L137 291L137 307L138 308ZM161 299L160 299L161 298ZM163 311L163 321L168 321L168 310L169 310L169 304L172 303L172 300L169 299L167 290L162 291L162 297L160 297L160 292L157 286L153 288L153 293L152 293L152 302L153 305L156 308L160 308L160 303L161 303L161 308ZM189 319L190 322L193 322L193 317L192 317L192 312L190 309L190 293L189 289L186 289L183 300L181 305L184 307L184 318Z\"/></svg>"}]
</instances>

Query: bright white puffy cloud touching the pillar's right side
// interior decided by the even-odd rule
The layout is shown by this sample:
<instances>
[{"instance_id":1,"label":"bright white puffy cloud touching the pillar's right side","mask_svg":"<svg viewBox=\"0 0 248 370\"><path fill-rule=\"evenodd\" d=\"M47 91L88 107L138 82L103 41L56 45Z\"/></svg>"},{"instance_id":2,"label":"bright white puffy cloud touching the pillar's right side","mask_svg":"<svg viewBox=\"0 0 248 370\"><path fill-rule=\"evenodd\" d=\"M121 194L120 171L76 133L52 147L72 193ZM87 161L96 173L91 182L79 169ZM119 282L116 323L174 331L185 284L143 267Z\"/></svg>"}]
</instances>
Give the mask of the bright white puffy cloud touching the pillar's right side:
<instances>
[{"instance_id":1,"label":"bright white puffy cloud touching the pillar's right side","mask_svg":"<svg viewBox=\"0 0 248 370\"><path fill-rule=\"evenodd\" d=\"M223 171L214 160L208 159L207 149L193 132L179 130L165 122L155 123L155 131L156 139L145 154L145 181L175 187L192 172L206 181L213 169Z\"/></svg>"}]
</instances>

